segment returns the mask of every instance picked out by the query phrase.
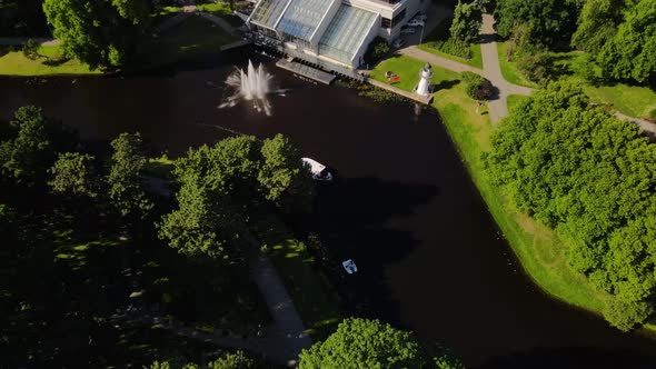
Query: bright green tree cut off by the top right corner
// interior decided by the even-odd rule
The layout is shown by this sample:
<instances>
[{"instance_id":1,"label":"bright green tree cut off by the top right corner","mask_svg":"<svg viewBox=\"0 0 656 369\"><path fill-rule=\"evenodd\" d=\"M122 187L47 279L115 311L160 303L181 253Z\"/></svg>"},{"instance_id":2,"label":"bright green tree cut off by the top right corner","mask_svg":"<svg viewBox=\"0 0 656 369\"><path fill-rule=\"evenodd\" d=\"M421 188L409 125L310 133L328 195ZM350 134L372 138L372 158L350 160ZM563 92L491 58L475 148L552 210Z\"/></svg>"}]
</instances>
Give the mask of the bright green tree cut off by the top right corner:
<instances>
[{"instance_id":1,"label":"bright green tree cut off by the top right corner","mask_svg":"<svg viewBox=\"0 0 656 369\"><path fill-rule=\"evenodd\" d=\"M639 83L656 78L656 0L642 0L604 44L597 61L605 77Z\"/></svg>"}]
</instances>

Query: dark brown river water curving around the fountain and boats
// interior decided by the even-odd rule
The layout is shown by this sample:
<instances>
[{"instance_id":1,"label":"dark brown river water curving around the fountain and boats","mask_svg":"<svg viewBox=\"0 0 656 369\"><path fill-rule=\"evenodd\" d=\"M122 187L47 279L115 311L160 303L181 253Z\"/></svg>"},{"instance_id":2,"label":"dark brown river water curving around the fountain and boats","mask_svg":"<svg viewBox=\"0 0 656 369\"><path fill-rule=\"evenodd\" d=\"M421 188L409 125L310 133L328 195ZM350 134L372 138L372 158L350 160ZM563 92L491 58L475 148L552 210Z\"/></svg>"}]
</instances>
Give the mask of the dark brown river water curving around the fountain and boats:
<instances>
[{"instance_id":1,"label":"dark brown river water curving around the fountain and boats","mask_svg":"<svg viewBox=\"0 0 656 369\"><path fill-rule=\"evenodd\" d=\"M243 58L237 58L243 64ZM23 104L87 139L140 131L172 156L226 129L281 132L336 169L321 189L322 238L359 272L348 283L380 319L451 347L476 368L656 368L656 341L544 296L499 237L436 112L380 106L345 87L268 68L274 114L219 110L231 62L165 76L0 79L0 117Z\"/></svg>"}]
</instances>

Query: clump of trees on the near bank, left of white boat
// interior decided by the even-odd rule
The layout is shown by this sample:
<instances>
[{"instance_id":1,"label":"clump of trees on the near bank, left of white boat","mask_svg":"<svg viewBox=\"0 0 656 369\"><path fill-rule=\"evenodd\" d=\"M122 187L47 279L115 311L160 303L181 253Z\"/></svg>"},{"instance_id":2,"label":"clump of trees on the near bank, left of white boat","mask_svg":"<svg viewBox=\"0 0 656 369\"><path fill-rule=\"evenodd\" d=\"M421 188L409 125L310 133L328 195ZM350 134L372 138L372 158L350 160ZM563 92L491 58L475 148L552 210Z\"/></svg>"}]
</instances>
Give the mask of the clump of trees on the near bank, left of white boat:
<instances>
[{"instance_id":1,"label":"clump of trees on the near bank, left of white boat","mask_svg":"<svg viewBox=\"0 0 656 369\"><path fill-rule=\"evenodd\" d=\"M163 217L160 237L185 253L230 257L226 246L248 230L267 205L307 210L314 196L300 153L278 134L264 142L237 137L191 149L178 159L179 208Z\"/></svg>"}]
</instances>

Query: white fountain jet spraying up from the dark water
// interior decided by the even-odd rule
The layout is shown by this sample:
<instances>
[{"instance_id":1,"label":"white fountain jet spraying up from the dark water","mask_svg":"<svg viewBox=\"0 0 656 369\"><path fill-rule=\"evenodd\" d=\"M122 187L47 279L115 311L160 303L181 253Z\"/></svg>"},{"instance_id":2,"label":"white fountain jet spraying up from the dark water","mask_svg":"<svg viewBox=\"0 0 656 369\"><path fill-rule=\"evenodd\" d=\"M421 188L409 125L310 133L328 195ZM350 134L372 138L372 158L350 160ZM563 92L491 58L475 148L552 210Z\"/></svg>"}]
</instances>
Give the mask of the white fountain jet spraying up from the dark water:
<instances>
[{"instance_id":1,"label":"white fountain jet spraying up from the dark water","mask_svg":"<svg viewBox=\"0 0 656 369\"><path fill-rule=\"evenodd\" d=\"M252 101L252 107L257 111L264 111L267 116L270 116L271 104L267 96L272 92L281 92L271 90L272 77L261 63L258 68L255 68L252 62L248 60L246 71L243 69L237 69L228 76L226 84L232 89L232 94L219 108L235 107L240 100Z\"/></svg>"}]
</instances>

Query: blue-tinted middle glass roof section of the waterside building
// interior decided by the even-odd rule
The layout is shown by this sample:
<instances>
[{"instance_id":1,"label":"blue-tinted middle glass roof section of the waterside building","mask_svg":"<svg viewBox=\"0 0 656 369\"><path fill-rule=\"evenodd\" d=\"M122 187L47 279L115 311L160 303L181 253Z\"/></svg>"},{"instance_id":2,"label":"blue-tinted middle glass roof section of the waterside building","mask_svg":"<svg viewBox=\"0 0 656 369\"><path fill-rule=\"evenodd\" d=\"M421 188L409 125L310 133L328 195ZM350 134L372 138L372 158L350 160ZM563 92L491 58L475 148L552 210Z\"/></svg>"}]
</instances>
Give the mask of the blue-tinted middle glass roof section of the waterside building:
<instances>
[{"instance_id":1,"label":"blue-tinted middle glass roof section of the waterside building","mask_svg":"<svg viewBox=\"0 0 656 369\"><path fill-rule=\"evenodd\" d=\"M291 0L277 29L309 41L321 18L336 0Z\"/></svg>"}]
</instances>

